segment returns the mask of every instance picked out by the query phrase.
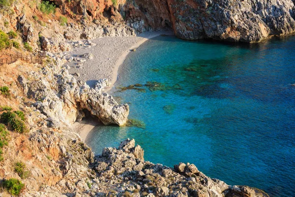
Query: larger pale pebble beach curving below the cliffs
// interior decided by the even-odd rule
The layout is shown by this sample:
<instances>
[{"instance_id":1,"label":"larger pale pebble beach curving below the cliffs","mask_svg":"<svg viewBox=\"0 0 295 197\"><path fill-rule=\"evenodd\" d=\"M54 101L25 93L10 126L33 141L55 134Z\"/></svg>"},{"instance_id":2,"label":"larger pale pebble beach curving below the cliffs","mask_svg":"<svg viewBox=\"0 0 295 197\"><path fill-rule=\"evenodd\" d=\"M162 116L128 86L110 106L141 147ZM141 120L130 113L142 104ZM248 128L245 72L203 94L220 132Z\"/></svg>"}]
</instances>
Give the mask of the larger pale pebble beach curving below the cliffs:
<instances>
[{"instance_id":1,"label":"larger pale pebble beach curving below the cliffs","mask_svg":"<svg viewBox=\"0 0 295 197\"><path fill-rule=\"evenodd\" d=\"M124 63L131 49L138 48L148 39L161 34L174 35L170 31L145 32L137 36L101 37L86 40L72 51L65 52L68 60L64 66L77 80L86 81L94 88L99 79L108 79L112 83L104 92L112 88L118 78L118 68ZM91 58L85 55L91 54ZM87 55L87 56L88 56ZM69 60L72 59L72 60Z\"/></svg>"}]
</instances>

